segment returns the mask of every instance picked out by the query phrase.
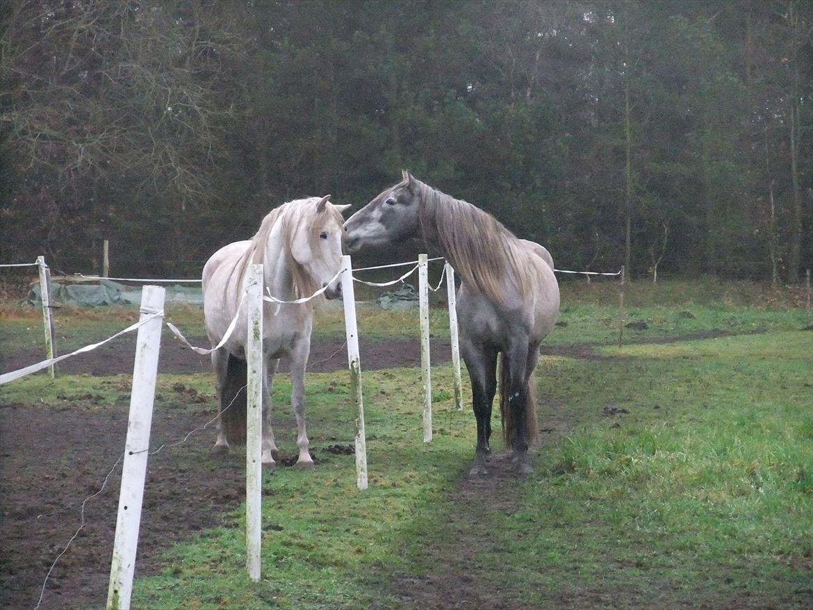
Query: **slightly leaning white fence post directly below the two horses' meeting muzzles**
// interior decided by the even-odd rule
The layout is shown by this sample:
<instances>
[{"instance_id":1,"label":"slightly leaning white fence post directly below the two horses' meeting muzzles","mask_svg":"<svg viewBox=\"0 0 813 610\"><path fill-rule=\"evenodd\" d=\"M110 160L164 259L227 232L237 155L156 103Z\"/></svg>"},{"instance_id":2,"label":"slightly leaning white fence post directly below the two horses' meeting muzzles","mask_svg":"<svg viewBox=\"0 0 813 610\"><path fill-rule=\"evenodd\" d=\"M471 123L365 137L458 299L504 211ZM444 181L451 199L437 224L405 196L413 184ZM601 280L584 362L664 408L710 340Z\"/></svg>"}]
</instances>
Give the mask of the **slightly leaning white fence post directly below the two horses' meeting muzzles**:
<instances>
[{"instance_id":1,"label":"slightly leaning white fence post directly below the two horses' meeting muzzles","mask_svg":"<svg viewBox=\"0 0 813 610\"><path fill-rule=\"evenodd\" d=\"M361 386L361 359L359 358L359 330L355 319L355 292L353 290L353 263L350 256L341 257L341 298L345 306L345 334L347 338L347 363L350 366L350 391L353 393L358 415L356 416L356 485L367 489L367 438L364 432L364 402Z\"/></svg>"}]
</instances>

